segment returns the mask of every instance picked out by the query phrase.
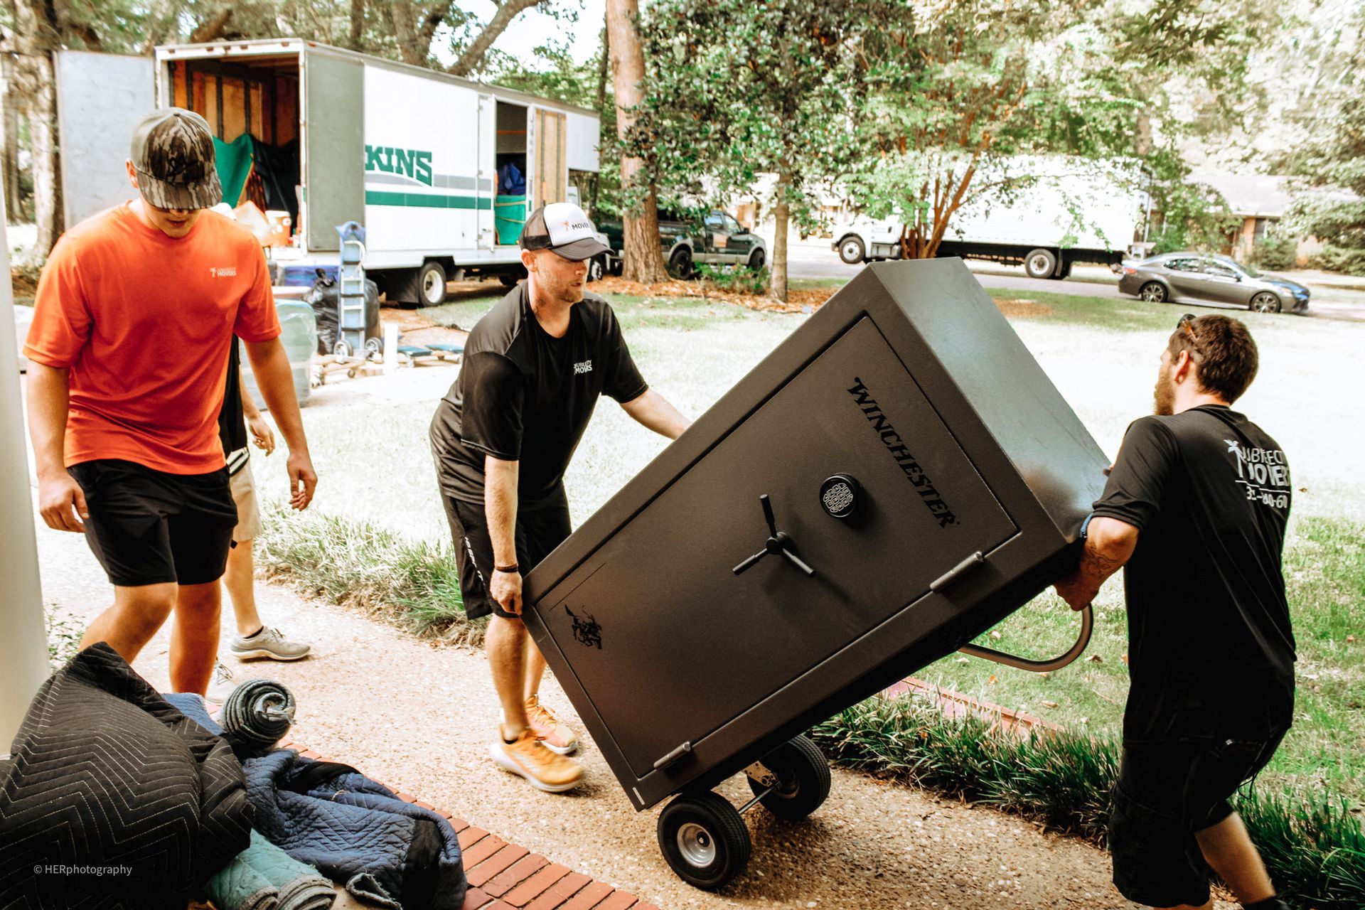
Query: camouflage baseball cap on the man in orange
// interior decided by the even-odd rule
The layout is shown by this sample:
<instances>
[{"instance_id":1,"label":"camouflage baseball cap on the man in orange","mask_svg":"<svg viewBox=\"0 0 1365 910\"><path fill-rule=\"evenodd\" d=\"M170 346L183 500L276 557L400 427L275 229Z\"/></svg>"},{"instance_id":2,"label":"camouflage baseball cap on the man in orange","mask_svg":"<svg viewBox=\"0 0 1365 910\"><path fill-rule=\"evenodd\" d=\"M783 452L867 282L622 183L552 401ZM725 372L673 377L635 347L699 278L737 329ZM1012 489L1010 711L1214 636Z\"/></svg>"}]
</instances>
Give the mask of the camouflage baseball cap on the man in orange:
<instances>
[{"instance_id":1,"label":"camouflage baseball cap on the man in orange","mask_svg":"<svg viewBox=\"0 0 1365 910\"><path fill-rule=\"evenodd\" d=\"M158 209L209 209L222 201L209 121L192 111L153 111L132 130L138 190Z\"/></svg>"}]
</instances>

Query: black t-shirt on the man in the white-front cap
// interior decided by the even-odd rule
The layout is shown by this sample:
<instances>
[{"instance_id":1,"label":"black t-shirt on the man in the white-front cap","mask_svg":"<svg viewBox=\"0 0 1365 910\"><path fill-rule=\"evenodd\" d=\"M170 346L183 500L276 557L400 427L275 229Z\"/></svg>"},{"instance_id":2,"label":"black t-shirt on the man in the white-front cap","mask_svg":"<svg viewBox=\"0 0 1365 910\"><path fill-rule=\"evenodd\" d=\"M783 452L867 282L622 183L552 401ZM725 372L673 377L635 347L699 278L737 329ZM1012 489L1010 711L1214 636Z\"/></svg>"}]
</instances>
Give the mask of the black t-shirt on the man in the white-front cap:
<instances>
[{"instance_id":1,"label":"black t-shirt on the man in the white-front cap","mask_svg":"<svg viewBox=\"0 0 1365 910\"><path fill-rule=\"evenodd\" d=\"M606 300L584 295L554 338L523 281L475 323L460 375L431 419L441 490L483 503L483 457L517 461L517 509L566 505L564 472L598 396L625 402L648 386Z\"/></svg>"}]
</instances>

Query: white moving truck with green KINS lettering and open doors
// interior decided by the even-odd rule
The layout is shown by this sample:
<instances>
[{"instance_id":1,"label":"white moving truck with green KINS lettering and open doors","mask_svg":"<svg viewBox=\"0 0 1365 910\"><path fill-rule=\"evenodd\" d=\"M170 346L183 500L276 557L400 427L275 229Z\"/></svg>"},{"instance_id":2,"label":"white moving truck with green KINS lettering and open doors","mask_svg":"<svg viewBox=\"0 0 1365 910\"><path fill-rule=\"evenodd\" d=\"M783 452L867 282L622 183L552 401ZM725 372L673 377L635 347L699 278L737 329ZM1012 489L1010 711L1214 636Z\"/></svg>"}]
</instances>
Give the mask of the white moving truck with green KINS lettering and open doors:
<instances>
[{"instance_id":1,"label":"white moving truck with green KINS lettering and open doors","mask_svg":"<svg viewBox=\"0 0 1365 910\"><path fill-rule=\"evenodd\" d=\"M336 228L355 221L369 277L419 306L441 303L446 280L515 281L526 214L576 201L599 166L594 111L302 38L64 50L57 89L67 224L128 198L123 160L143 113L188 108L246 176L224 181L227 201L265 192L262 209L289 211L269 250L277 269L334 266ZM524 188L500 186L509 165Z\"/></svg>"}]
</instances>

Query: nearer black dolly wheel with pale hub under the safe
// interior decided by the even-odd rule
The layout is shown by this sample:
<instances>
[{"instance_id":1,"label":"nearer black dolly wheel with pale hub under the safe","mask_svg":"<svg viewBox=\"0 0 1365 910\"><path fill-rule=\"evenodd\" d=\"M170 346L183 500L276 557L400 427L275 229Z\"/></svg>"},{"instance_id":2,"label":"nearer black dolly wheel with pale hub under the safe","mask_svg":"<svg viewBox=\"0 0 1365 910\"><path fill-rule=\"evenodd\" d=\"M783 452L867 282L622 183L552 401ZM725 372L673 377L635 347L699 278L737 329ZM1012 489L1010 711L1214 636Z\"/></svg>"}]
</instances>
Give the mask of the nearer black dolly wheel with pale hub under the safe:
<instances>
[{"instance_id":1,"label":"nearer black dolly wheel with pale hub under the safe","mask_svg":"<svg viewBox=\"0 0 1365 910\"><path fill-rule=\"evenodd\" d=\"M749 830L738 810L714 793L684 794L659 813L659 850L693 888L717 891L749 862Z\"/></svg>"}]
</instances>

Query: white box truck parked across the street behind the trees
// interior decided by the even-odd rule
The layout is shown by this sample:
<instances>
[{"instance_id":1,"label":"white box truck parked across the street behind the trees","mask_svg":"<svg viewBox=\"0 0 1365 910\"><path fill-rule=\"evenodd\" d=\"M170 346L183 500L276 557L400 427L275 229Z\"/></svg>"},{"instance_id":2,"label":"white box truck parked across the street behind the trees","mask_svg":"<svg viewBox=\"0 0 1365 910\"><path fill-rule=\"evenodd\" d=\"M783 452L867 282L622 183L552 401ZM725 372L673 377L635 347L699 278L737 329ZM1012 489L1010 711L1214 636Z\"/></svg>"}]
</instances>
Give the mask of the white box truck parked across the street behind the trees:
<instances>
[{"instance_id":1,"label":"white box truck parked across the street behind the trees","mask_svg":"<svg viewBox=\"0 0 1365 910\"><path fill-rule=\"evenodd\" d=\"M987 192L964 205L949 221L939 256L1022 265L1033 278L1065 278L1077 262L1117 269L1138 239L1148 196L1141 171L1126 162L1017 158L1009 171L1032 179L1007 196ZM977 186L996 180L976 177ZM850 265L900 259L901 225L895 217L854 218L834 226L831 246Z\"/></svg>"}]
</instances>

